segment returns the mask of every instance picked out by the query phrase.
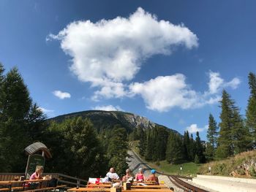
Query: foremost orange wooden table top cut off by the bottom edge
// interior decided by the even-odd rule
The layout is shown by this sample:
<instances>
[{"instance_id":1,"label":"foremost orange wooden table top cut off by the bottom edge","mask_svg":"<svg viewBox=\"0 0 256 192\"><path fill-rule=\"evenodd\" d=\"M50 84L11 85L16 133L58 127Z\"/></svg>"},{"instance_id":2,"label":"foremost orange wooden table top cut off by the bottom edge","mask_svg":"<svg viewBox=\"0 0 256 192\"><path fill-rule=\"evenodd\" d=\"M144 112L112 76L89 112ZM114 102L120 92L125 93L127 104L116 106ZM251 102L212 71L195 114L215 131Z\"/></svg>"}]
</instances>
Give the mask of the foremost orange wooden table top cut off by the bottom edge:
<instances>
[{"instance_id":1,"label":"foremost orange wooden table top cut off by the bottom edge","mask_svg":"<svg viewBox=\"0 0 256 192\"><path fill-rule=\"evenodd\" d=\"M105 191L109 192L110 188L70 188L67 191ZM154 189L154 188L132 188L130 190L122 190L125 192L173 192L167 188Z\"/></svg>"}]
</instances>

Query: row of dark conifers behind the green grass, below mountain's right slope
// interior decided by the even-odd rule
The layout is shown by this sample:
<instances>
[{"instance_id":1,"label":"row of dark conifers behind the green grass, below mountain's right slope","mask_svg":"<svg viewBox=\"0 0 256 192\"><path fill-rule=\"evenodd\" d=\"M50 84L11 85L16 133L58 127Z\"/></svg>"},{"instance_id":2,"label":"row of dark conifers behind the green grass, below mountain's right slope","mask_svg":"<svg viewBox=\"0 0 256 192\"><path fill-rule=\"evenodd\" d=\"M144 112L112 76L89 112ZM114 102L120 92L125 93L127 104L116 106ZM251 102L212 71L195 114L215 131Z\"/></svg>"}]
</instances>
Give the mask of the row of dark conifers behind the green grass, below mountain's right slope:
<instances>
[{"instance_id":1,"label":"row of dark conifers behind the green grass, below mountain's right slope","mask_svg":"<svg viewBox=\"0 0 256 192\"><path fill-rule=\"evenodd\" d=\"M199 133L196 138L189 136L189 131L184 132L184 136L162 126L153 128L135 128L129 139L139 140L139 153L146 161L166 160L172 164L181 164L186 161L204 163L205 145L200 139Z\"/></svg>"}]
</instances>

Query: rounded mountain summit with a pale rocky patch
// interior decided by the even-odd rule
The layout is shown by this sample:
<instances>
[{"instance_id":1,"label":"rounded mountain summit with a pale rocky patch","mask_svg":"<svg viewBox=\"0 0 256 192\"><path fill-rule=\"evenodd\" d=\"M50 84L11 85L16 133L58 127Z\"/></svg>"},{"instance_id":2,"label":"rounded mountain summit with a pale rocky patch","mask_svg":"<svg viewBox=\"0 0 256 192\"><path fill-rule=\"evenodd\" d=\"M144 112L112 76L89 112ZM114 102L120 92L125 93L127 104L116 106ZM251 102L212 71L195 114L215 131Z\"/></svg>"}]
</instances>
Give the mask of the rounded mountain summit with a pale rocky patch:
<instances>
[{"instance_id":1,"label":"rounded mountain summit with a pale rocky patch","mask_svg":"<svg viewBox=\"0 0 256 192\"><path fill-rule=\"evenodd\" d=\"M128 132L132 131L135 127L142 127L146 129L153 128L155 126L161 126L157 123L152 122L151 120L148 120L147 118L141 117L140 115L120 111L89 110L83 112L72 112L66 115L59 115L55 118L50 118L48 120L61 122L67 118L74 118L79 116L83 118L89 118L98 131L103 128L111 128L115 125L121 125L122 127L126 128ZM170 129L170 131L175 130ZM177 131L175 132L178 133Z\"/></svg>"}]
</instances>

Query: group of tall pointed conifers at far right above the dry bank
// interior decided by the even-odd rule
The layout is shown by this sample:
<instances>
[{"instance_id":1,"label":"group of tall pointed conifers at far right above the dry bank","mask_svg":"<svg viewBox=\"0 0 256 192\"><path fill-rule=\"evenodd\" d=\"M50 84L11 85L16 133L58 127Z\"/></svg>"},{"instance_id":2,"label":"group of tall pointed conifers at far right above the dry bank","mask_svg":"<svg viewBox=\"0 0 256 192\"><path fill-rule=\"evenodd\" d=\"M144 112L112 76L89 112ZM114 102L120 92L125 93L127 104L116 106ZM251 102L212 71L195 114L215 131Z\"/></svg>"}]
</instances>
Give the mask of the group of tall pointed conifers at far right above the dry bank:
<instances>
[{"instance_id":1,"label":"group of tall pointed conifers at far right above the dry bank","mask_svg":"<svg viewBox=\"0 0 256 192\"><path fill-rule=\"evenodd\" d=\"M219 126L213 115L209 115L206 143L208 161L227 158L256 147L256 76L252 72L248 75L248 84L250 95L245 118L225 90L220 101Z\"/></svg>"}]
</instances>

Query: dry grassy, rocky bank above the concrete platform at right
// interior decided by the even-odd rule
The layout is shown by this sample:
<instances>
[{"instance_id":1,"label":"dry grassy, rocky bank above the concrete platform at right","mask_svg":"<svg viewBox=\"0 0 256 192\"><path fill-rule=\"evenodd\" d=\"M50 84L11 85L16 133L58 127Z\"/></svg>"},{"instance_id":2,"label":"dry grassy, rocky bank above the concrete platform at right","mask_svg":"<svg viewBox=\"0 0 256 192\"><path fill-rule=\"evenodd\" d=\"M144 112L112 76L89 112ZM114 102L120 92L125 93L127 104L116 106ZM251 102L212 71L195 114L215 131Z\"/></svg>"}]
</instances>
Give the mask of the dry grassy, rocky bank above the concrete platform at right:
<instances>
[{"instance_id":1,"label":"dry grassy, rocky bank above the concrete platform at right","mask_svg":"<svg viewBox=\"0 0 256 192\"><path fill-rule=\"evenodd\" d=\"M211 172L208 171L209 166L211 166ZM256 150L204 164L199 172L200 174L256 178Z\"/></svg>"}]
</instances>

